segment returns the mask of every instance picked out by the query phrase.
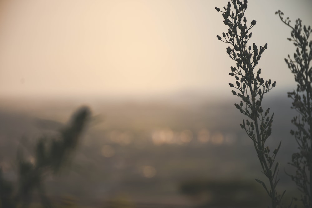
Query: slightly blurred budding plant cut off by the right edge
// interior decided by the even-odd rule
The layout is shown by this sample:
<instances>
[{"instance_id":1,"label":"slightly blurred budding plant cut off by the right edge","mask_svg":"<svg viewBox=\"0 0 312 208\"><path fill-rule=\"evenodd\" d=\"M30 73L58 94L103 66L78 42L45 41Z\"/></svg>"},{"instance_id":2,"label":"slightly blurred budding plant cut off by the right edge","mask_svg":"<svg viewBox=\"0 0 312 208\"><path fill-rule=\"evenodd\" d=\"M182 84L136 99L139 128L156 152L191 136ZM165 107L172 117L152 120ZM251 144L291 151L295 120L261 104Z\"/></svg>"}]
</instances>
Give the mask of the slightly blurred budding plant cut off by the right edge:
<instances>
[{"instance_id":1,"label":"slightly blurred budding plant cut off by the right edge","mask_svg":"<svg viewBox=\"0 0 312 208\"><path fill-rule=\"evenodd\" d=\"M290 133L295 137L299 151L292 154L290 165L296 168L295 175L290 175L301 191L301 202L305 207L312 207L312 41L308 41L312 33L311 27L302 27L300 19L296 20L295 26L290 25L289 17L283 18L284 13L280 10L275 12L281 21L291 28L291 38L296 46L294 60L288 55L285 58L286 64L292 73L295 74L295 81L298 83L297 89L288 92L294 102L292 109L295 109L299 115L295 116L293 123L297 130L291 130Z\"/></svg>"}]
</instances>

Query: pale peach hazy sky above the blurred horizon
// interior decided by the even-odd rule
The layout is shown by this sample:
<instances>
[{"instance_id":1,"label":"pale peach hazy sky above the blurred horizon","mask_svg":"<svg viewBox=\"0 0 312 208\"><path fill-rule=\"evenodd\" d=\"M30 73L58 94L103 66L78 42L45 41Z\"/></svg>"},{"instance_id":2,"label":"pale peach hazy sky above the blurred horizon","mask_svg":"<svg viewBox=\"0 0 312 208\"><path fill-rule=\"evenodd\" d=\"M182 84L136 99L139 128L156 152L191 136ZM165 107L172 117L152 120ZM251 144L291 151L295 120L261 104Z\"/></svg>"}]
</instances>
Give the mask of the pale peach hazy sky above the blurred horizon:
<instances>
[{"instance_id":1,"label":"pale peach hazy sky above the blurred horizon","mask_svg":"<svg viewBox=\"0 0 312 208\"><path fill-rule=\"evenodd\" d=\"M223 0L2 0L0 96L226 93ZM253 0L247 21L268 43L259 62L277 91L295 87L284 57L295 47L275 15L312 26L311 0Z\"/></svg>"}]
</instances>

